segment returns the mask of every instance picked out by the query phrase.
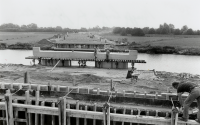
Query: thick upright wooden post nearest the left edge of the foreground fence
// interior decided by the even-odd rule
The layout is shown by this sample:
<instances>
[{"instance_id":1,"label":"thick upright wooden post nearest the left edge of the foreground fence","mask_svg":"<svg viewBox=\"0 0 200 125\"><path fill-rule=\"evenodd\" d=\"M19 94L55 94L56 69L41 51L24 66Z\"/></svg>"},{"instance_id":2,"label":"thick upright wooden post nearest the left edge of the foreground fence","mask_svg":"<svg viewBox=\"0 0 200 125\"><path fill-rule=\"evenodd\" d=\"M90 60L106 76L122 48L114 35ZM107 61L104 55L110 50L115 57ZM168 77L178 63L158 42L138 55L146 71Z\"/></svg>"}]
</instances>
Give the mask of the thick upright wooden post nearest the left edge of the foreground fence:
<instances>
[{"instance_id":1,"label":"thick upright wooden post nearest the left edge of the foreground fence","mask_svg":"<svg viewBox=\"0 0 200 125\"><path fill-rule=\"evenodd\" d=\"M5 94L5 108L6 108L7 125L14 125L13 107L12 107L12 95L10 93L6 93Z\"/></svg>"}]
</instances>

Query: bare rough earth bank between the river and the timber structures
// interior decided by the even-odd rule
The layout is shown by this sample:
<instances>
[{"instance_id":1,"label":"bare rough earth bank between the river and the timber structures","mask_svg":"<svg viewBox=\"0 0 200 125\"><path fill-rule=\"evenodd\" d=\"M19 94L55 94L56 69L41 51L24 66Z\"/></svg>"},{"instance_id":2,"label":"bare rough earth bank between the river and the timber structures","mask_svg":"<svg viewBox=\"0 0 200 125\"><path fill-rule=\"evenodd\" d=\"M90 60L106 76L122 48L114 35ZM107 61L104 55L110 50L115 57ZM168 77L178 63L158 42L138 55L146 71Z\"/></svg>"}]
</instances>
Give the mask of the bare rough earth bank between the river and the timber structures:
<instances>
[{"instance_id":1,"label":"bare rough earth bank between the river and the timber structures","mask_svg":"<svg viewBox=\"0 0 200 125\"><path fill-rule=\"evenodd\" d=\"M33 84L76 85L107 90L110 87L110 80L113 79L118 91L160 93L168 88L170 88L170 91L175 91L171 88L173 81L188 81L198 84L200 80L200 75L189 73L156 71L155 75L153 72L138 71L137 73L140 74L138 81L131 82L130 79L126 79L127 70L56 67L53 72L50 72L51 68L40 65L0 64L0 81L23 83L24 73L28 71L30 83Z\"/></svg>"}]
</instances>

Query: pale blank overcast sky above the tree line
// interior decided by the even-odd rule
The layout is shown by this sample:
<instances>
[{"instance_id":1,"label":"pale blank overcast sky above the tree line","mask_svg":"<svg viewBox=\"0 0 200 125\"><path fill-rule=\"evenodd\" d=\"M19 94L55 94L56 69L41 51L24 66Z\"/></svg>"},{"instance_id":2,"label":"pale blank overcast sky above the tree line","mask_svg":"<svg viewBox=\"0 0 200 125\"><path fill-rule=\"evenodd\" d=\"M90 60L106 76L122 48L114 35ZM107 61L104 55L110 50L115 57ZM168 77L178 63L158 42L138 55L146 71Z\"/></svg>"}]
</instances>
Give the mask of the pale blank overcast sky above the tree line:
<instances>
[{"instance_id":1,"label":"pale blank overcast sky above the tree line","mask_svg":"<svg viewBox=\"0 0 200 125\"><path fill-rule=\"evenodd\" d=\"M200 29L200 0L0 0L0 25Z\"/></svg>"}]
</instances>

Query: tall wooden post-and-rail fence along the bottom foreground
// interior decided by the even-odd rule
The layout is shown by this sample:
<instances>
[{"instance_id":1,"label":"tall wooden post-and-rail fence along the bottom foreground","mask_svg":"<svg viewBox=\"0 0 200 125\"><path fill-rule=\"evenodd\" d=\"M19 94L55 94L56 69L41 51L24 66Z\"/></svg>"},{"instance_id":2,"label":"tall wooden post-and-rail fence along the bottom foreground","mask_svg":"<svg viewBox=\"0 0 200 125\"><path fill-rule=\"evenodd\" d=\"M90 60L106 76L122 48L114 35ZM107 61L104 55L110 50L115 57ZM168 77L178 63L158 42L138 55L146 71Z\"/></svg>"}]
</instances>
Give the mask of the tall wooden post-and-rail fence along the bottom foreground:
<instances>
[{"instance_id":1,"label":"tall wooden post-and-rail fence along the bottom foreground","mask_svg":"<svg viewBox=\"0 0 200 125\"><path fill-rule=\"evenodd\" d=\"M37 92L38 93L38 92ZM7 91L5 94L5 102L0 102L0 110L5 110L4 117L0 119L6 121L7 125L18 124L19 122L25 122L27 125L45 125L45 115L51 115L51 124L56 125L71 125L74 124L70 120L71 118L76 118L76 125L83 124L87 125L88 119L93 120L93 125L96 125L96 120L101 120L103 125L110 125L111 122L113 125L116 122L121 122L124 124L125 122L132 123L142 123L142 124L156 124L156 125L171 125L175 124L173 119L166 117L157 117L157 116L142 116L138 113L138 115L133 115L133 110L131 114L117 114L116 109L114 109L114 113L110 112L110 104L106 103L103 107L103 112L96 112L96 105L94 105L93 111L87 111L87 106L84 107L84 110L80 110L79 102L76 102L76 109L70 109L70 104L66 98L60 97L58 99L57 105L55 107L55 103L52 103L52 107L44 106L44 101L41 102L41 106L39 106L38 94L36 95L35 105L30 105L31 100L29 99L29 93L26 91L26 101L25 104L18 104L17 101L14 100L12 94ZM18 112L25 112L25 118L18 118ZM35 115L34 119L32 115ZM6 116L6 117L5 117ZM40 118L39 118L40 116ZM55 121L55 116L58 116L58 123ZM80 118L84 119L83 123L80 123ZM5 124L5 122L3 123ZM186 125L184 122L177 122L178 125ZM190 120L187 122L187 125L197 125L194 120Z\"/></svg>"}]
</instances>

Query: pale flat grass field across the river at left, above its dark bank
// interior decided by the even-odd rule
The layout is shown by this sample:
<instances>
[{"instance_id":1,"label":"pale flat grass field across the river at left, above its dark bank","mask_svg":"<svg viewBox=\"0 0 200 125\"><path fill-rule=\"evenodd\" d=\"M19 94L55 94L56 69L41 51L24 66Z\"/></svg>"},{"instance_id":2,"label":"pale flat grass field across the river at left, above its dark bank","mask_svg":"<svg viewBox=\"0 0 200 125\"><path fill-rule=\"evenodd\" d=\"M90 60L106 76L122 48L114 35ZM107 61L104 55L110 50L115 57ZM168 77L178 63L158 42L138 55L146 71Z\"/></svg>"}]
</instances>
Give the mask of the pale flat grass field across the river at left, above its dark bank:
<instances>
[{"instance_id":1,"label":"pale flat grass field across the river at left, above its dark bank","mask_svg":"<svg viewBox=\"0 0 200 125\"><path fill-rule=\"evenodd\" d=\"M0 32L0 43L35 43L44 38L53 37L54 32Z\"/></svg>"}]
</instances>

